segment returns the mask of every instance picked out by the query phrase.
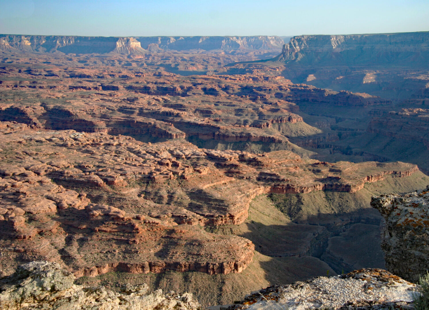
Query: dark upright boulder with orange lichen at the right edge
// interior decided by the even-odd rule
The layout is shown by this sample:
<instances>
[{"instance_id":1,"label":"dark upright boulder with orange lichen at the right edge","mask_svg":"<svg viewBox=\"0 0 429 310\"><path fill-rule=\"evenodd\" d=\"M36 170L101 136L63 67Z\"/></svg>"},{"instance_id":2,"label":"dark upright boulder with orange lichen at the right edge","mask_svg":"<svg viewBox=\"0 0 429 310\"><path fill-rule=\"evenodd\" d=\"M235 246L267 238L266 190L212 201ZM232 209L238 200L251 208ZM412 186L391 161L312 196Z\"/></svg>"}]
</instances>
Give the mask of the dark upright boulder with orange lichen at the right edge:
<instances>
[{"instance_id":1,"label":"dark upright boulder with orange lichen at the right edge","mask_svg":"<svg viewBox=\"0 0 429 310\"><path fill-rule=\"evenodd\" d=\"M386 220L381 247L386 268L416 282L429 266L429 186L405 195L373 196Z\"/></svg>"}]
</instances>

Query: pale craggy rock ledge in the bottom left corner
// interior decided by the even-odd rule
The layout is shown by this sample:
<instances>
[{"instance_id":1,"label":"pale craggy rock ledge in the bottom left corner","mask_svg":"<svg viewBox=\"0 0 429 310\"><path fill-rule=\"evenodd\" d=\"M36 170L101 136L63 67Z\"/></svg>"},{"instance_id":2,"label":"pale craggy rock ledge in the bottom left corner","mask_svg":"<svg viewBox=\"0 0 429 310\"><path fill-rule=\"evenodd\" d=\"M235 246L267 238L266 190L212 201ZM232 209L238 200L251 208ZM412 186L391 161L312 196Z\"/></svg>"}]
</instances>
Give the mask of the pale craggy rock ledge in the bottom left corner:
<instances>
[{"instance_id":1,"label":"pale craggy rock ledge in the bottom left corner","mask_svg":"<svg viewBox=\"0 0 429 310\"><path fill-rule=\"evenodd\" d=\"M164 294L158 289L148 293L142 284L121 287L121 292L73 284L75 276L60 269L57 263L29 262L0 280L0 308L13 309L202 309L192 294Z\"/></svg>"}]
</instances>

